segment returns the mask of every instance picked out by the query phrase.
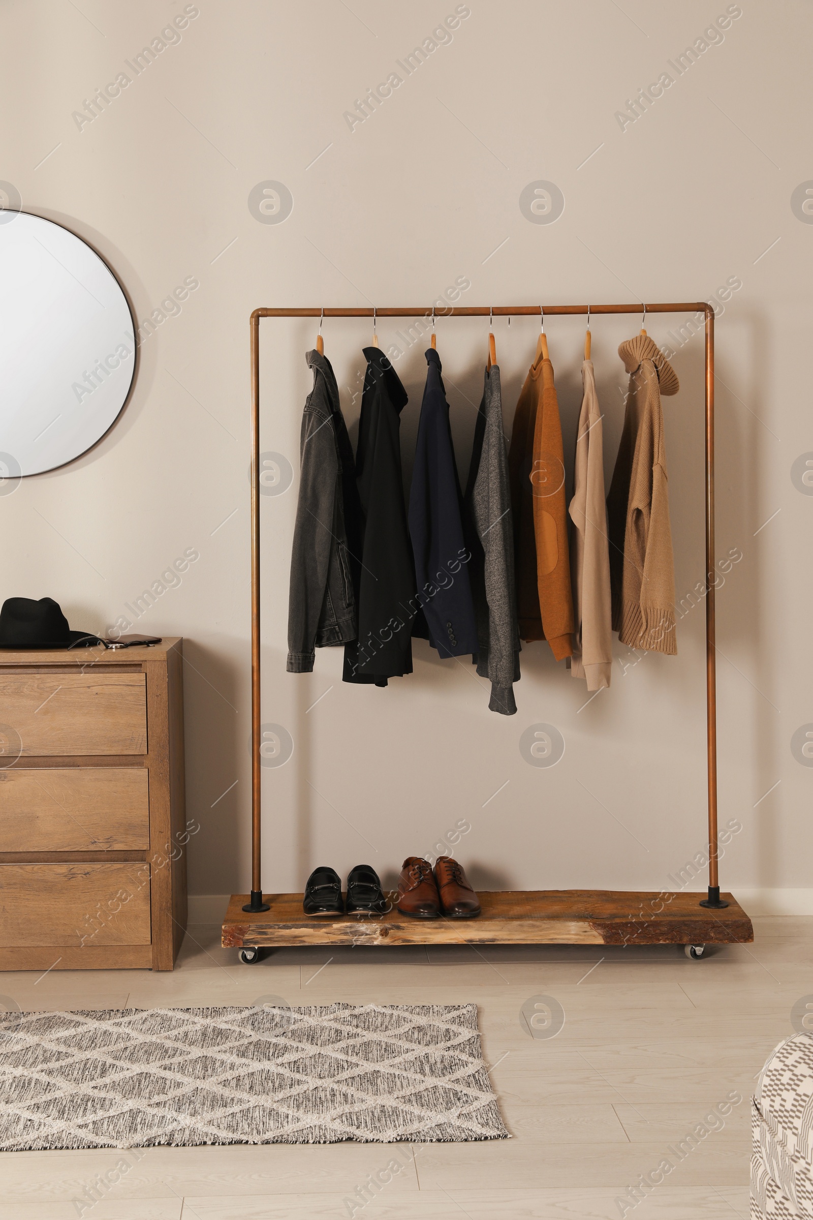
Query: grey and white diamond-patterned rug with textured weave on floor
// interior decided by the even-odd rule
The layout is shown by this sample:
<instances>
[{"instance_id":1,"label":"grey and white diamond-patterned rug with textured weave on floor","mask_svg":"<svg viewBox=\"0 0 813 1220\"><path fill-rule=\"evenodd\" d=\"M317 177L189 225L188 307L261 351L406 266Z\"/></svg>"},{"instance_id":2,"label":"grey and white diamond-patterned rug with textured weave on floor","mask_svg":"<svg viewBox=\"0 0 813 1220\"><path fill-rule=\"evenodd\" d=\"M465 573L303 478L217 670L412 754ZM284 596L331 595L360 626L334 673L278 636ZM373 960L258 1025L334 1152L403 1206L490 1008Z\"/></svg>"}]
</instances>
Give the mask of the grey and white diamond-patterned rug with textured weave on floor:
<instances>
[{"instance_id":1,"label":"grey and white diamond-patterned rug with textured weave on floor","mask_svg":"<svg viewBox=\"0 0 813 1220\"><path fill-rule=\"evenodd\" d=\"M0 1149L506 1139L477 1005L0 1014Z\"/></svg>"}]
</instances>

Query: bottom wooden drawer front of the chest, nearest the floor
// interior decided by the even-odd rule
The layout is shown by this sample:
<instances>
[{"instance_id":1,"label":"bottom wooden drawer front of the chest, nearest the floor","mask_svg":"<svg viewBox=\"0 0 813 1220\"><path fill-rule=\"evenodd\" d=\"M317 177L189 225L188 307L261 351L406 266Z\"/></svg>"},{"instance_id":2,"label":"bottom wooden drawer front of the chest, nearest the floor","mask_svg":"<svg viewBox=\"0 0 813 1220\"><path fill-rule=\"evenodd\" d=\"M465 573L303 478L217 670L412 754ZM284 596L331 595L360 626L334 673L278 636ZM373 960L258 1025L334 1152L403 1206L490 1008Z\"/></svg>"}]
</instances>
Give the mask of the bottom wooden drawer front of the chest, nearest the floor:
<instances>
[{"instance_id":1,"label":"bottom wooden drawer front of the chest, nearest the floor","mask_svg":"<svg viewBox=\"0 0 813 1220\"><path fill-rule=\"evenodd\" d=\"M150 943L146 864L0 864L0 944Z\"/></svg>"}]
</instances>

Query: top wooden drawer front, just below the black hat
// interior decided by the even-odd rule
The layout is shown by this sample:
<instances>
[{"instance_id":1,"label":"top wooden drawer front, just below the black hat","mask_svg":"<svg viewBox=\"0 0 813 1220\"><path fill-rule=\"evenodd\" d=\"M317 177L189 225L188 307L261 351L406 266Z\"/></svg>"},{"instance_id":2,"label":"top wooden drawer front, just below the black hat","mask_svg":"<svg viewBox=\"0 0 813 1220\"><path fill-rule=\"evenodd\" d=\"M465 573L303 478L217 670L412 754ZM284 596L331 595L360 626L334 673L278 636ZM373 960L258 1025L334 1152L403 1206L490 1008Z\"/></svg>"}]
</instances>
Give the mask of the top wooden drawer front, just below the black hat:
<instances>
[{"instance_id":1,"label":"top wooden drawer front, just below the black hat","mask_svg":"<svg viewBox=\"0 0 813 1220\"><path fill-rule=\"evenodd\" d=\"M146 754L146 678L144 673L2 675L0 720L12 738L7 753L22 758Z\"/></svg>"}]
</instances>

